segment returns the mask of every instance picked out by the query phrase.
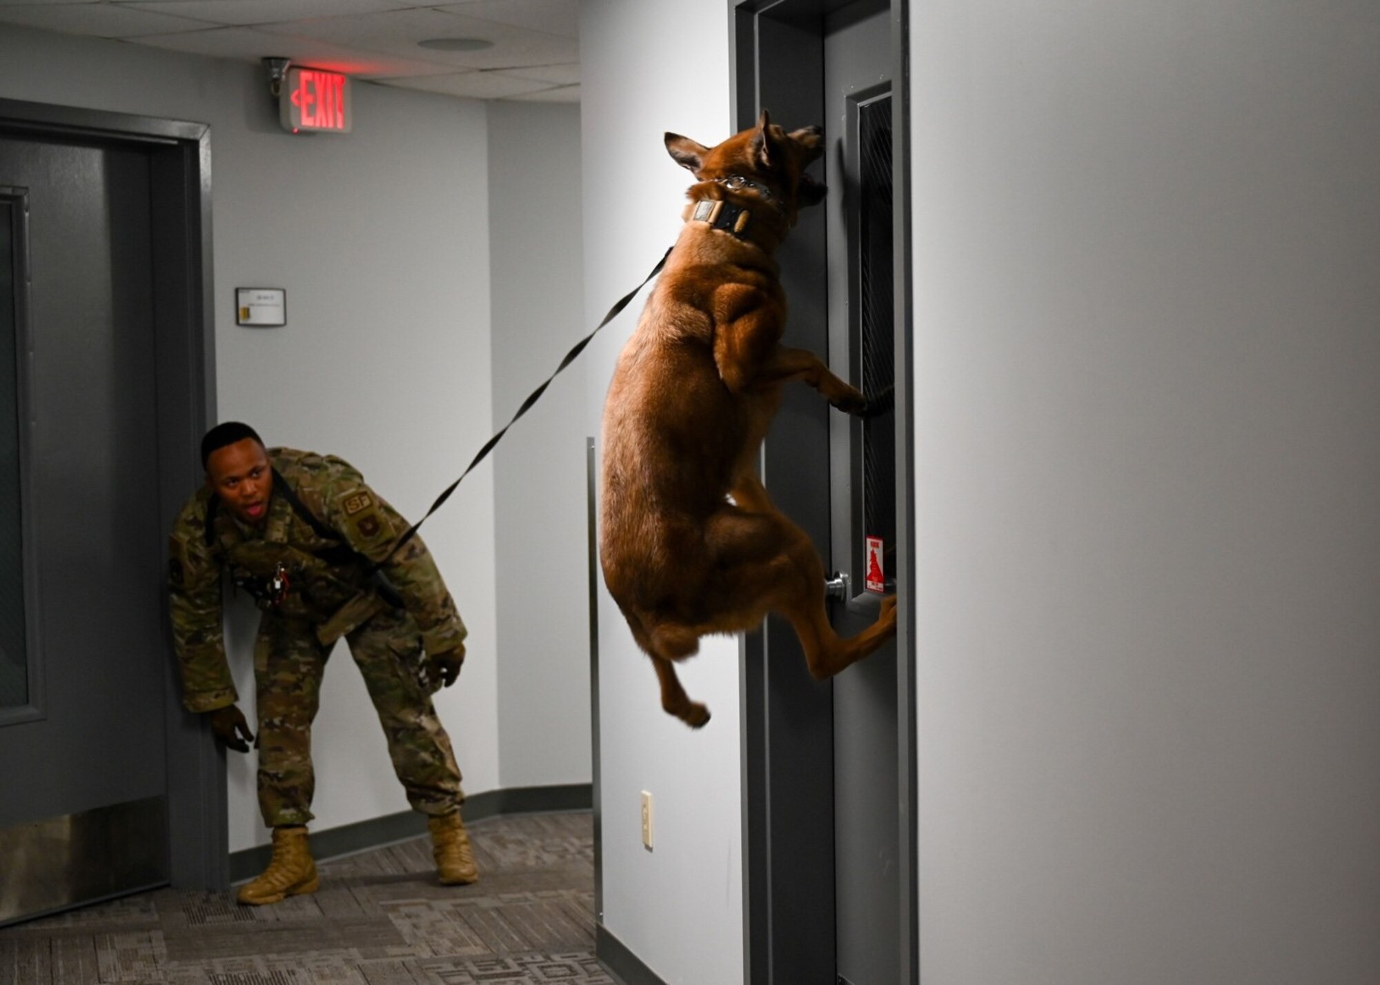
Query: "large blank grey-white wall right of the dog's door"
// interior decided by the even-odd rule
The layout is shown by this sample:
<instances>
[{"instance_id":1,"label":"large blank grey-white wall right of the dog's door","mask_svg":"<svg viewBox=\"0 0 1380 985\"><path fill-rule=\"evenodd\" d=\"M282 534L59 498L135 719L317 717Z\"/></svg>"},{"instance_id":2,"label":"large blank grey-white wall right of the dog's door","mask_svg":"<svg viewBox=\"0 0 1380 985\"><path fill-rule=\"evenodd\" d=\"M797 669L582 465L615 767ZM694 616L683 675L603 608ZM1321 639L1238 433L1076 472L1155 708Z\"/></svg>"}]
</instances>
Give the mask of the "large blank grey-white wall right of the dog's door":
<instances>
[{"instance_id":1,"label":"large blank grey-white wall right of the dog's door","mask_svg":"<svg viewBox=\"0 0 1380 985\"><path fill-rule=\"evenodd\" d=\"M922 981L1380 981L1377 8L911 18Z\"/></svg>"}]
</instances>

